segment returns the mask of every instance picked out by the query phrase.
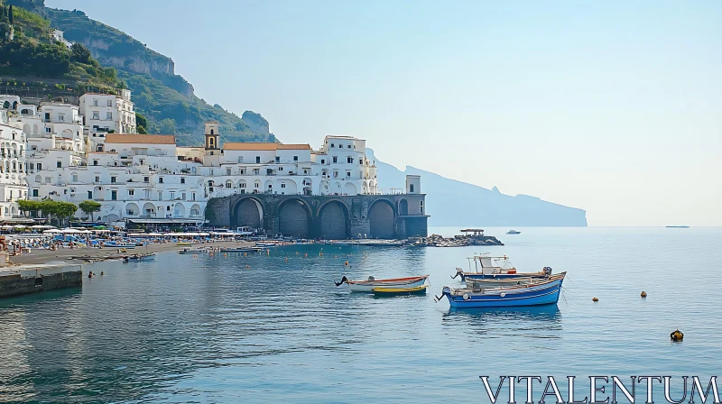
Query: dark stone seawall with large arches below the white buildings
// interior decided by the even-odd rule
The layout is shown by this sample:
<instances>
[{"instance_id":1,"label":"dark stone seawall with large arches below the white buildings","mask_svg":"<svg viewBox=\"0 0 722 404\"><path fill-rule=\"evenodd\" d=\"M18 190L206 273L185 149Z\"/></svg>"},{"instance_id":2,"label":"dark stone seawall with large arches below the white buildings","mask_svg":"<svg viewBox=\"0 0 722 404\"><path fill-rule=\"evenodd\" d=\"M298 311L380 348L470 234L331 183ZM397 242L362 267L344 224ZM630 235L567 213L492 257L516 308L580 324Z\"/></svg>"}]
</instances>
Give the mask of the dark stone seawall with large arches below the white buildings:
<instances>
[{"instance_id":1,"label":"dark stone seawall with large arches below the white buildings","mask_svg":"<svg viewBox=\"0 0 722 404\"><path fill-rule=\"evenodd\" d=\"M425 197L236 194L210 199L206 219L216 227L249 226L298 238L399 239L427 235Z\"/></svg>"}]
</instances>

